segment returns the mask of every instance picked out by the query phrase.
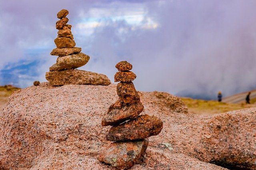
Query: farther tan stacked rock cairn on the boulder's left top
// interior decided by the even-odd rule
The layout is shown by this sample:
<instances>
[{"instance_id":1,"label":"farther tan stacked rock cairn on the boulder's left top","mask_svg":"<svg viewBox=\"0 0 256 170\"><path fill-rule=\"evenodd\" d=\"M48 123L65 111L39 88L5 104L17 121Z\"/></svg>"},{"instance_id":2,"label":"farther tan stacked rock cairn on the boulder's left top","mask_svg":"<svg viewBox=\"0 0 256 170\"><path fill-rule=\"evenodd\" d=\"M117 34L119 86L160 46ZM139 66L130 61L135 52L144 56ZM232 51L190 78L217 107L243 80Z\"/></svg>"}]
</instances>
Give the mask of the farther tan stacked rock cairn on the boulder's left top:
<instances>
[{"instance_id":1,"label":"farther tan stacked rock cairn on the boulder's left top","mask_svg":"<svg viewBox=\"0 0 256 170\"><path fill-rule=\"evenodd\" d=\"M82 48L75 47L76 43L71 33L71 25L68 23L68 10L60 10L56 22L58 37L54 40L57 48L51 55L59 56L56 63L46 73L46 79L54 86L77 84L77 85L109 85L111 81L106 75L76 68L85 65L90 57L81 52Z\"/></svg>"}]
</instances>

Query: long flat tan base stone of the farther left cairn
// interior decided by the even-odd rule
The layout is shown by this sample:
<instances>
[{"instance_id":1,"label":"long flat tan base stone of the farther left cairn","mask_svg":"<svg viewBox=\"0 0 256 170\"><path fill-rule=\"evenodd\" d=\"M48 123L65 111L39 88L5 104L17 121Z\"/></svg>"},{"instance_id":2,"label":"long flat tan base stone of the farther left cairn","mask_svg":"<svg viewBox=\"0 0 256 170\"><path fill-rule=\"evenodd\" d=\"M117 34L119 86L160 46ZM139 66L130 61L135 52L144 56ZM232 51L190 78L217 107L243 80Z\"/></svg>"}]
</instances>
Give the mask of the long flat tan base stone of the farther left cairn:
<instances>
[{"instance_id":1,"label":"long flat tan base stone of the farther left cairn","mask_svg":"<svg viewBox=\"0 0 256 170\"><path fill-rule=\"evenodd\" d=\"M46 80L51 85L110 85L111 81L104 74L91 71L67 69L62 71L46 72Z\"/></svg>"}]
</instances>

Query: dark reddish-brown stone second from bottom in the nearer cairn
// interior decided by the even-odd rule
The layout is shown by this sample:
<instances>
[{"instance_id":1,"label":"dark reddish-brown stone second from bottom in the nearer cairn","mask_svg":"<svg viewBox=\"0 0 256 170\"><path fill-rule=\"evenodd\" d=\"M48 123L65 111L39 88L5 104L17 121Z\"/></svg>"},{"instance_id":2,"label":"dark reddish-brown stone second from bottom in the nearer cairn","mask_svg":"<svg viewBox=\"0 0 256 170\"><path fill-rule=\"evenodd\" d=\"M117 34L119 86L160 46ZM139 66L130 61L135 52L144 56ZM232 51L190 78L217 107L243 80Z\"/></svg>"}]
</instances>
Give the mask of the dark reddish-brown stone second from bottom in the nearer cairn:
<instances>
[{"instance_id":1,"label":"dark reddish-brown stone second from bottom in the nearer cairn","mask_svg":"<svg viewBox=\"0 0 256 170\"><path fill-rule=\"evenodd\" d=\"M148 138L158 135L162 128L163 122L158 117L140 115L136 119L111 127L106 140L127 141Z\"/></svg>"}]
</instances>

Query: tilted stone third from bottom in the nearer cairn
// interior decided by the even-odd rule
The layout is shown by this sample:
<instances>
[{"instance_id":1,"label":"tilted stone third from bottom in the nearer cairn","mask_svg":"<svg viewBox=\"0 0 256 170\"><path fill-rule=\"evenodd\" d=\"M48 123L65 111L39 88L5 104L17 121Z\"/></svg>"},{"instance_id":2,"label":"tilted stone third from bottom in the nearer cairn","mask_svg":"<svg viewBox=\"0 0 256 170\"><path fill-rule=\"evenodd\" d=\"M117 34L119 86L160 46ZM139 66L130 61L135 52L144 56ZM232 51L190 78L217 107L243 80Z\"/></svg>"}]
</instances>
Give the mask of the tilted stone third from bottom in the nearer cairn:
<instances>
[{"instance_id":1,"label":"tilted stone third from bottom in the nearer cairn","mask_svg":"<svg viewBox=\"0 0 256 170\"><path fill-rule=\"evenodd\" d=\"M135 119L143 111L144 106L139 101L132 105L126 105L120 99L110 105L106 115L103 116L102 126L115 126L129 119Z\"/></svg>"}]
</instances>

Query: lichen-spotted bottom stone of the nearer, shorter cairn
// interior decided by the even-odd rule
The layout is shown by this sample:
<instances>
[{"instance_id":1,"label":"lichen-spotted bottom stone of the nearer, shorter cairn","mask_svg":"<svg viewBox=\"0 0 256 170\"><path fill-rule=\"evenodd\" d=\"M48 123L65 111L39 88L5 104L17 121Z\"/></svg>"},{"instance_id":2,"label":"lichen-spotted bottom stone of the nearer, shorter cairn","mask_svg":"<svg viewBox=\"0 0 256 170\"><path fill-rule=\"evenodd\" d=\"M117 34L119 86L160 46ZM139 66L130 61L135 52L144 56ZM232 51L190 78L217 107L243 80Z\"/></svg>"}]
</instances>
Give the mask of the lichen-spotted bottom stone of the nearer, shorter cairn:
<instances>
[{"instance_id":1,"label":"lichen-spotted bottom stone of the nearer, shorter cairn","mask_svg":"<svg viewBox=\"0 0 256 170\"><path fill-rule=\"evenodd\" d=\"M127 169L134 164L141 164L148 147L148 139L134 142L113 142L99 156L105 162L118 169Z\"/></svg>"}]
</instances>

